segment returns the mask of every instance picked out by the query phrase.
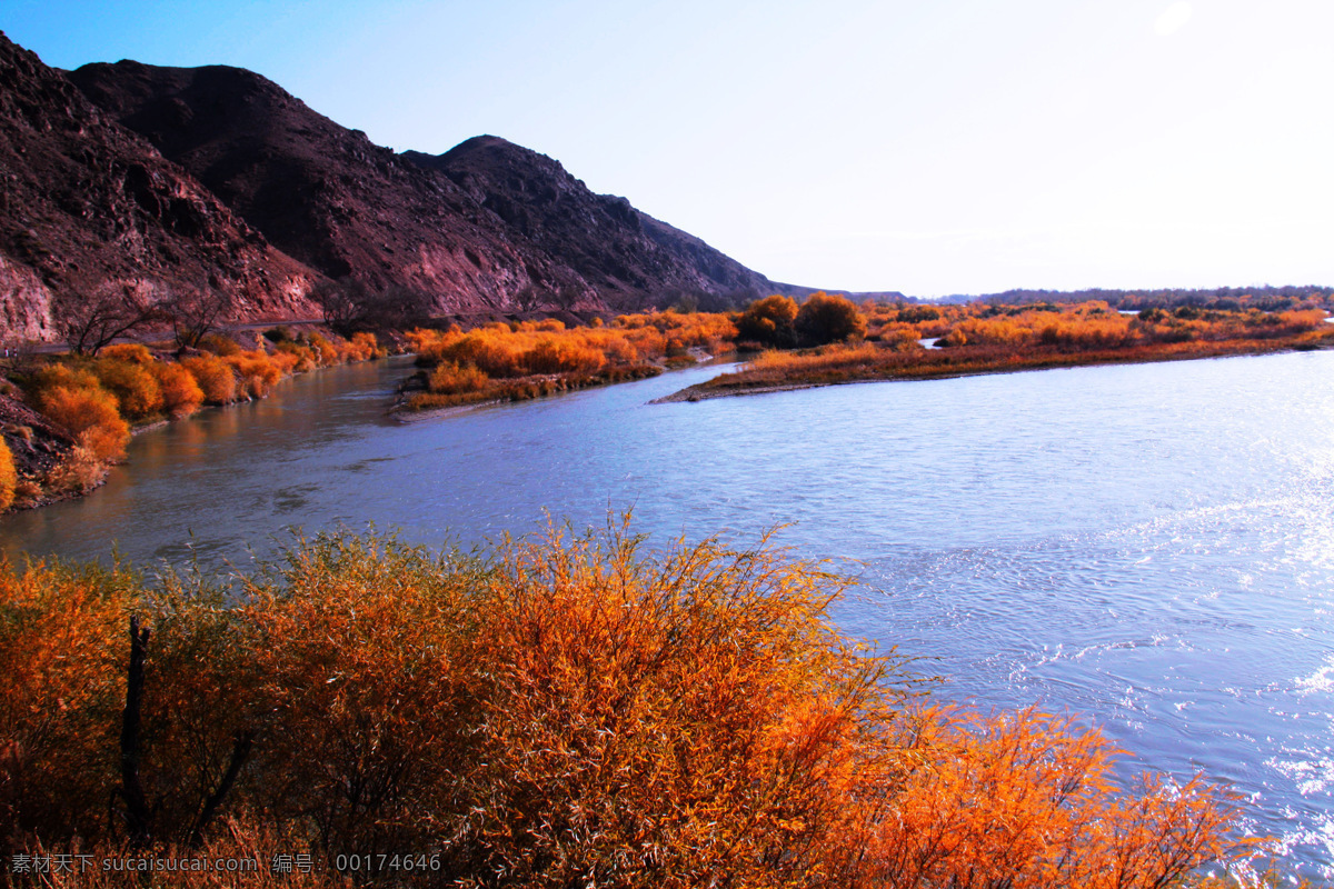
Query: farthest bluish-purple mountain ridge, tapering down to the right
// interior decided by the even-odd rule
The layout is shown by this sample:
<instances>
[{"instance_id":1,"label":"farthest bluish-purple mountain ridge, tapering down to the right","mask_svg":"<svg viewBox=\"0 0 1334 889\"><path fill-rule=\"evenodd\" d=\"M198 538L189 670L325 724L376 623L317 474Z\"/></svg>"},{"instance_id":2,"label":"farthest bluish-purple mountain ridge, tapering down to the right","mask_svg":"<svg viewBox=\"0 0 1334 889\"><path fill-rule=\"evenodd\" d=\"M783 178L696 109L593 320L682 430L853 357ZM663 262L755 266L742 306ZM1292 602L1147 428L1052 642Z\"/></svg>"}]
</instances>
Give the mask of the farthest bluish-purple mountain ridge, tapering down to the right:
<instances>
[{"instance_id":1,"label":"farthest bluish-purple mountain ridge, tapering down to the right","mask_svg":"<svg viewBox=\"0 0 1334 889\"><path fill-rule=\"evenodd\" d=\"M526 239L559 256L607 301L787 289L639 212L624 197L592 193L559 161L504 139L476 136L443 155L403 156L443 173Z\"/></svg>"}]
</instances>

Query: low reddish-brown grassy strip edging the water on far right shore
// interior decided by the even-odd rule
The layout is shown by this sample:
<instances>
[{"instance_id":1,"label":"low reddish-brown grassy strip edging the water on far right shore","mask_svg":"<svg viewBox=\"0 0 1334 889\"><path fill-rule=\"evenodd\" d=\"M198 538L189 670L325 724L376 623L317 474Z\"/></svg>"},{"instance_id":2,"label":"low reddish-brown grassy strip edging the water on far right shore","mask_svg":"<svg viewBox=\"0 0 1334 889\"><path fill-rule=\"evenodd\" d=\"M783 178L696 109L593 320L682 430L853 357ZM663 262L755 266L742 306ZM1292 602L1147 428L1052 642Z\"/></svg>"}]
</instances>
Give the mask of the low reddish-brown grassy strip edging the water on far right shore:
<instances>
[{"instance_id":1,"label":"low reddish-brown grassy strip edging the water on far right shore","mask_svg":"<svg viewBox=\"0 0 1334 889\"><path fill-rule=\"evenodd\" d=\"M838 345L804 353L764 353L740 371L687 387L656 399L652 404L766 395L851 383L938 380L1053 368L1270 355L1331 347L1334 347L1334 329L1315 329L1274 339L1150 343L1102 349L1035 345L1015 351L1011 347L991 344L956 345L944 349L927 349L919 344Z\"/></svg>"}]
</instances>

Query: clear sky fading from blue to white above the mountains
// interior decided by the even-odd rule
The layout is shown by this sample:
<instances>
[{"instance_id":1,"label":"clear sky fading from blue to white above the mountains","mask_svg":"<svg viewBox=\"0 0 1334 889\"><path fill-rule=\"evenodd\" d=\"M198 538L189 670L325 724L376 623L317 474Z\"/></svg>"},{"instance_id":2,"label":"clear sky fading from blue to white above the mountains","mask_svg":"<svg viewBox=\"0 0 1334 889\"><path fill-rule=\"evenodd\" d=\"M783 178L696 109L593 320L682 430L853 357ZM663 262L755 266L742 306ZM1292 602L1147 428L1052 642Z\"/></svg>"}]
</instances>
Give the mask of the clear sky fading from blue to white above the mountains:
<instances>
[{"instance_id":1,"label":"clear sky fading from blue to white above the mountains","mask_svg":"<svg viewBox=\"0 0 1334 889\"><path fill-rule=\"evenodd\" d=\"M51 65L480 133L779 281L1334 285L1334 0L0 0Z\"/></svg>"}]
</instances>

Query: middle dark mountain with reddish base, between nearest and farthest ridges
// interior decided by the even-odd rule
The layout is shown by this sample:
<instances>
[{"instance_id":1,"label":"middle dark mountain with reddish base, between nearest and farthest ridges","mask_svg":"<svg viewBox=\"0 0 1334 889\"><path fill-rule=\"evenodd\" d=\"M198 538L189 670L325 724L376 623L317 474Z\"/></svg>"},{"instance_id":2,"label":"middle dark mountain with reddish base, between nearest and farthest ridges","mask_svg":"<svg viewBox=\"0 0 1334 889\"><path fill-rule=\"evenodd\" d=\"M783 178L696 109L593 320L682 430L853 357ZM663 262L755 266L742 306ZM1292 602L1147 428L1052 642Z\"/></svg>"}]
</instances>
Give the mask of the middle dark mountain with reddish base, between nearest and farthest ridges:
<instances>
[{"instance_id":1,"label":"middle dark mountain with reddish base, between nearest and farthest ridges","mask_svg":"<svg viewBox=\"0 0 1334 889\"><path fill-rule=\"evenodd\" d=\"M69 77L273 244L329 277L424 292L440 312L510 308L534 289L596 300L575 272L447 177L256 73L121 61Z\"/></svg>"}]
</instances>

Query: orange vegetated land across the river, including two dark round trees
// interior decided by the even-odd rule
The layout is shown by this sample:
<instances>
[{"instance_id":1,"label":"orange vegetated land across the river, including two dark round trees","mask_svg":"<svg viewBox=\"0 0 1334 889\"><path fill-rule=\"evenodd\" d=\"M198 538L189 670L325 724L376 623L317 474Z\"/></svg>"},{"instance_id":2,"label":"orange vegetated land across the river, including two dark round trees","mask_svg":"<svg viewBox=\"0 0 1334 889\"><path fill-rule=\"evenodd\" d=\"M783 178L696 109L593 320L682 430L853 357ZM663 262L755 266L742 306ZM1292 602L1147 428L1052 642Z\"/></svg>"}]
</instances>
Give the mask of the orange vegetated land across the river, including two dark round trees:
<instances>
[{"instance_id":1,"label":"orange vegetated land across the river, including two dark round trees","mask_svg":"<svg viewBox=\"0 0 1334 889\"><path fill-rule=\"evenodd\" d=\"M802 305L772 296L751 304L738 320L743 336L764 348L758 357L735 373L663 401L1334 344L1334 325L1326 323L1327 312L1314 300L1282 311L1229 303L1229 308L1179 305L1125 312L1101 300L859 307L819 293ZM808 311L812 304L818 313Z\"/></svg>"}]
</instances>

